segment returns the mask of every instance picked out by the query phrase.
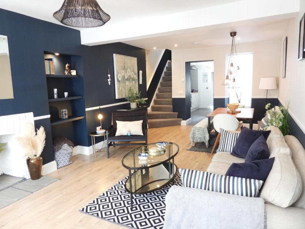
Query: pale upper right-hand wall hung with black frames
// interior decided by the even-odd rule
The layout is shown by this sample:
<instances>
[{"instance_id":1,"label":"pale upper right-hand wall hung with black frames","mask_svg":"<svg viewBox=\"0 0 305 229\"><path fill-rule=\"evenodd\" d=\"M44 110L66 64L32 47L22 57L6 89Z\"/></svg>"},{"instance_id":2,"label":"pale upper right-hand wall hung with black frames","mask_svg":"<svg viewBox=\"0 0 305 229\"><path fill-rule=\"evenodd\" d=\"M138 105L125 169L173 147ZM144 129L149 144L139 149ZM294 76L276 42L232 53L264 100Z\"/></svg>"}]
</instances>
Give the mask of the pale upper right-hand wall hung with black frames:
<instances>
[{"instance_id":1,"label":"pale upper right-hand wall hung with black frames","mask_svg":"<svg viewBox=\"0 0 305 229\"><path fill-rule=\"evenodd\" d=\"M305 133L305 60L298 61L299 23L305 12L305 1L300 1L300 13L290 19L281 40L281 60L278 98L282 103L289 103L289 113ZM287 42L286 78L282 78L283 42Z\"/></svg>"}]
</instances>

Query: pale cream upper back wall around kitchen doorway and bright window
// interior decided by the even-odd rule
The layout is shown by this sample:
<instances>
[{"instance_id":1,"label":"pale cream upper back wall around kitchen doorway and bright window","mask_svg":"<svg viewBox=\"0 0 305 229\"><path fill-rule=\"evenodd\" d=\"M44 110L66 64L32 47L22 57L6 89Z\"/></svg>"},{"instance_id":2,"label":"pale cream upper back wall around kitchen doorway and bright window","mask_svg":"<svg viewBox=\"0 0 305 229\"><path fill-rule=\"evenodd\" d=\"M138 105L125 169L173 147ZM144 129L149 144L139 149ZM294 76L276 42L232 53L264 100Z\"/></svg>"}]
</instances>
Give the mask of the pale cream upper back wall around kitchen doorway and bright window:
<instances>
[{"instance_id":1,"label":"pale cream upper back wall around kitchen doorway and bright window","mask_svg":"<svg viewBox=\"0 0 305 229\"><path fill-rule=\"evenodd\" d=\"M230 37L228 36L228 39ZM252 97L264 98L266 90L258 89L261 77L278 77L280 75L281 41L265 41L236 44L238 53L253 53ZM172 87L173 98L185 97L185 62L214 60L214 97L228 96L225 86L221 85L227 67L225 55L230 53L231 45L206 47L203 49L172 50ZM305 63L305 60L304 60ZM242 67L242 66L240 66ZM179 94L178 91L183 91ZM268 91L268 97L278 97L278 90Z\"/></svg>"}]
</instances>

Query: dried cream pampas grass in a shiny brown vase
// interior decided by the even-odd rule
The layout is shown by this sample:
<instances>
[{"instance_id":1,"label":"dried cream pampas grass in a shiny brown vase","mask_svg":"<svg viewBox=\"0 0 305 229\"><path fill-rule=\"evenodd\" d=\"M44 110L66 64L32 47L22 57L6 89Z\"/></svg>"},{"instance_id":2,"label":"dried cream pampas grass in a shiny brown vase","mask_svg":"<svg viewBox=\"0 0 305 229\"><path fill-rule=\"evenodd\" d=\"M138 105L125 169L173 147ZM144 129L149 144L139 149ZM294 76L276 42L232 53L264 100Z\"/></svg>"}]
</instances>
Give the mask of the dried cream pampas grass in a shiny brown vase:
<instances>
[{"instance_id":1,"label":"dried cream pampas grass in a shiny brown vase","mask_svg":"<svg viewBox=\"0 0 305 229\"><path fill-rule=\"evenodd\" d=\"M35 133L34 126L30 123L25 123L24 127L23 136L16 139L25 150L31 179L37 180L41 177L42 157L40 155L45 147L45 129L41 126Z\"/></svg>"}]
</instances>

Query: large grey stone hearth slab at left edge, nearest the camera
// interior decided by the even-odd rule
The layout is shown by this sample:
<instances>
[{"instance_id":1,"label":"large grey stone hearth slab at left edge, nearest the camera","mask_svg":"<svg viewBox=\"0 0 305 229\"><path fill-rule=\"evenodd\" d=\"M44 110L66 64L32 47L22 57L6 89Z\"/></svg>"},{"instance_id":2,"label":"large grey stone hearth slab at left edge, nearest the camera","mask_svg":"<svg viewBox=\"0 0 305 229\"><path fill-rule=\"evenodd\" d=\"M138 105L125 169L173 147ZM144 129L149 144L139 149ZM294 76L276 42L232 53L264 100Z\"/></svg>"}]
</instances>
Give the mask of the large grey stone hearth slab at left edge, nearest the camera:
<instances>
[{"instance_id":1,"label":"large grey stone hearth slab at left edge, nearest the camera","mask_svg":"<svg viewBox=\"0 0 305 229\"><path fill-rule=\"evenodd\" d=\"M13 187L9 187L0 191L0 209L26 197L29 194L31 193L28 191Z\"/></svg>"}]
</instances>

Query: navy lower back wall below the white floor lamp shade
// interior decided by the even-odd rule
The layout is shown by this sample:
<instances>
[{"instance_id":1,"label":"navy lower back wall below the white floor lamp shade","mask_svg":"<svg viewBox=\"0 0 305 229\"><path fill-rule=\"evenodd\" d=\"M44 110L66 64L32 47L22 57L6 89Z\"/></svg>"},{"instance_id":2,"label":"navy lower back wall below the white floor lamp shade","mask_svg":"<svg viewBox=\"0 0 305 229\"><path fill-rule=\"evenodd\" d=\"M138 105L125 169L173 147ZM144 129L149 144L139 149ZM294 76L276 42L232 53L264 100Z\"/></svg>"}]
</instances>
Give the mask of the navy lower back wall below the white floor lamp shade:
<instances>
[{"instance_id":1,"label":"navy lower back wall below the white floor lamp shade","mask_svg":"<svg viewBox=\"0 0 305 229\"><path fill-rule=\"evenodd\" d=\"M267 103L271 103L273 106L278 106L278 99L252 98L251 107L254 108L253 123L257 123L257 121L260 121L262 118L264 118L266 113L265 105Z\"/></svg>"}]
</instances>

